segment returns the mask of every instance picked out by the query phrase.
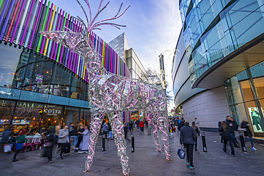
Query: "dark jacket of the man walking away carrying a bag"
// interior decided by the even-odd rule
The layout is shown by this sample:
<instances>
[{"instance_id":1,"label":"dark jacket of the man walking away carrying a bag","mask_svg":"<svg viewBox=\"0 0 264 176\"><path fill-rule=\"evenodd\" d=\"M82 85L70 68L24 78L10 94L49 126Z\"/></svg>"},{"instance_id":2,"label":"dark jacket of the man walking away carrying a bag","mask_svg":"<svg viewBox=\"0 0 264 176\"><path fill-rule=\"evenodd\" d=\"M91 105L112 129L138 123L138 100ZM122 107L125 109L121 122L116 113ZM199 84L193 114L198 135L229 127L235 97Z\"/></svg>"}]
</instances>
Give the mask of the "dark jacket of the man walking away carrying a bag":
<instances>
[{"instance_id":1,"label":"dark jacket of the man walking away carrying a bag","mask_svg":"<svg viewBox=\"0 0 264 176\"><path fill-rule=\"evenodd\" d=\"M194 144L196 140L196 130L189 125L184 125L181 128L180 143L181 144Z\"/></svg>"}]
</instances>

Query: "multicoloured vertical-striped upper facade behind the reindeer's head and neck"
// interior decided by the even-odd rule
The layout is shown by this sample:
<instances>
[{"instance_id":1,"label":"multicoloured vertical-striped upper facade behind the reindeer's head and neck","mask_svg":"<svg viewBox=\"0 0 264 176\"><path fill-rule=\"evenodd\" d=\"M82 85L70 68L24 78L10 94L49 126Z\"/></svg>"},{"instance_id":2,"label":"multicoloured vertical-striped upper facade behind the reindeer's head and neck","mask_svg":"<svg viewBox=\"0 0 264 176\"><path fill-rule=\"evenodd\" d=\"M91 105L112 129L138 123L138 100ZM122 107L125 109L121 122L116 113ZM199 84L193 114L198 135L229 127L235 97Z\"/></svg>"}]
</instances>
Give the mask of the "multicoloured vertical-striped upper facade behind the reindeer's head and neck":
<instances>
[{"instance_id":1,"label":"multicoloured vertical-striped upper facade behind the reindeer's head and neck","mask_svg":"<svg viewBox=\"0 0 264 176\"><path fill-rule=\"evenodd\" d=\"M80 21L46 0L0 0L0 43L24 47L68 68L84 81L88 81L86 64L78 53L40 35L40 31L62 31L64 26L75 32L83 30ZM89 35L94 48L102 56L107 71L130 77L126 63L108 43L96 33ZM124 120L127 117L123 113Z\"/></svg>"}]
</instances>

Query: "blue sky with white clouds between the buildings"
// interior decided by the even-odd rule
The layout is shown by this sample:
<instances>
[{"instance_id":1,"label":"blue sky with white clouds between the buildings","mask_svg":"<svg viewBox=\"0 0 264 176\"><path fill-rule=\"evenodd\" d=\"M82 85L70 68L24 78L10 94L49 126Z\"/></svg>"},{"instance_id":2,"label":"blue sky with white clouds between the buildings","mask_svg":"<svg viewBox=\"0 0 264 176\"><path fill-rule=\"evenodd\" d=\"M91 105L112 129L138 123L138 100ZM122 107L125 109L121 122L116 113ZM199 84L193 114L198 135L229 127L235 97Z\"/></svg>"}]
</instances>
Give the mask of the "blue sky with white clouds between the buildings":
<instances>
[{"instance_id":1,"label":"blue sky with white clouds between the buildings","mask_svg":"<svg viewBox=\"0 0 264 176\"><path fill-rule=\"evenodd\" d=\"M83 7L88 8L83 0L79 0ZM67 11L71 16L81 16L85 19L80 6L75 0L51 0L61 9ZM108 1L103 1L104 6ZM112 21L116 24L126 25L125 28L118 30L112 26L101 26L101 31L95 32L109 42L121 33L126 33L129 46L136 52L138 58L145 68L153 66L156 56L166 48L176 48L178 35L181 31L181 16L178 10L178 0L111 0L108 7L101 12L98 20L106 19L116 15L120 4L123 2L123 8L131 7L120 19ZM92 18L95 16L100 0L90 0ZM158 51L155 53L155 51ZM172 56L168 59L169 52L164 53L166 58L167 73L171 72ZM166 78L171 82L171 76ZM172 84L168 88L172 90Z\"/></svg>"}]
</instances>

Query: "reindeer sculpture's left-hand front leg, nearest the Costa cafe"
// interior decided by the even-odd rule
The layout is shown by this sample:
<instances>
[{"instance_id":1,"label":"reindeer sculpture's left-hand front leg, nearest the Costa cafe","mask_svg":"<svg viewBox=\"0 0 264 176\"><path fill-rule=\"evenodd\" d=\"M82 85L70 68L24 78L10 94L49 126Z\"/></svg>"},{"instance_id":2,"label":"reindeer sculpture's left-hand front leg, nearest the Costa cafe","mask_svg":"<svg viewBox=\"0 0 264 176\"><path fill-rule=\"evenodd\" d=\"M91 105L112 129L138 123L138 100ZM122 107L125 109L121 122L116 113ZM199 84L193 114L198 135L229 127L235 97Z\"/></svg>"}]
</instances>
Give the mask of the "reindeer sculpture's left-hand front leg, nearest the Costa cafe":
<instances>
[{"instance_id":1,"label":"reindeer sculpture's left-hand front leg, nearest the Costa cafe","mask_svg":"<svg viewBox=\"0 0 264 176\"><path fill-rule=\"evenodd\" d=\"M96 150L96 143L98 140L98 134L103 122L104 113L93 114L91 117L91 126L90 126L90 143L88 147L88 156L85 162L85 170L83 172L91 171L91 164L93 163L93 156Z\"/></svg>"}]
</instances>

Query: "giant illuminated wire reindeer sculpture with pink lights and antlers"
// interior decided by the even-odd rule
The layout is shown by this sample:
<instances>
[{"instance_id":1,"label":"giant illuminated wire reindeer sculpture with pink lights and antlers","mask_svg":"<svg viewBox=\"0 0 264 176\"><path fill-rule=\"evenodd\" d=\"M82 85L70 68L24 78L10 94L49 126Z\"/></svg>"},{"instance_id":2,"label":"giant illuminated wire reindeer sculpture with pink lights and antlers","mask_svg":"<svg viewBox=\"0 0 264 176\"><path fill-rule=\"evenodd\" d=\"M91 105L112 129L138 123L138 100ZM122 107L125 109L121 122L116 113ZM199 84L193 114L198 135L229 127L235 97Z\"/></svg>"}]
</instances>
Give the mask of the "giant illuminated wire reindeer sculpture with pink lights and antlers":
<instances>
[{"instance_id":1,"label":"giant illuminated wire reindeer sculpture with pink lights and antlers","mask_svg":"<svg viewBox=\"0 0 264 176\"><path fill-rule=\"evenodd\" d=\"M166 161L170 161L169 142L168 142L168 120L166 117L166 93L161 86L148 85L148 83L118 76L106 71L101 63L101 56L93 49L91 40L88 37L89 33L98 29L101 25L111 25L116 28L124 27L118 24L108 23L113 19L118 19L121 11L121 6L116 16L111 19L101 20L95 23L98 14L106 9L109 2L101 9L99 5L96 16L91 20L91 8L87 0L84 0L88 6L90 20L81 6L83 13L86 16L87 26L80 17L76 17L83 25L80 32L73 32L66 28L66 31L41 31L41 35L46 38L61 43L71 51L75 51L81 55L83 61L86 62L88 71L88 100L91 102L91 135L88 147L88 157L85 164L85 171L90 171L93 162L98 133L103 122L103 116L108 113L108 118L112 126L113 136L118 149L118 156L121 158L123 175L128 175L128 156L126 155L126 142L123 133L123 111L144 110L151 117L151 128L153 129L154 140L158 152L161 152L161 147L158 142L158 130L162 133L163 146L166 155ZM74 17L75 18L75 17ZM89 23L89 21L91 21ZM119 28L118 28L119 29Z\"/></svg>"}]
</instances>

